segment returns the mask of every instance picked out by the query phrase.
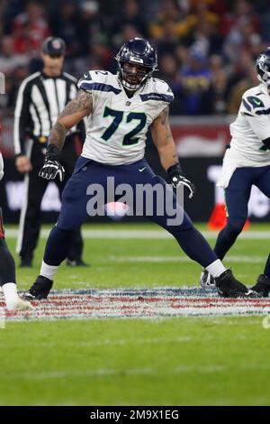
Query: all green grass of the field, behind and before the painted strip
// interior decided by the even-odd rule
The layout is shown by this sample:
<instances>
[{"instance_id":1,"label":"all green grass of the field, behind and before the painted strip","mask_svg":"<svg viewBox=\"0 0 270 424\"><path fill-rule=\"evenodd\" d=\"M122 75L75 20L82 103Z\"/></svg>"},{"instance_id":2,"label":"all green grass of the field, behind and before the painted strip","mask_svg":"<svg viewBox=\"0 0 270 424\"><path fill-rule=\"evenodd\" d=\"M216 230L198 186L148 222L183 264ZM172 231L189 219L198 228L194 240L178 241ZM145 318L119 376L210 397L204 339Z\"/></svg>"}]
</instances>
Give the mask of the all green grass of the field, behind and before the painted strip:
<instances>
[{"instance_id":1,"label":"all green grass of the field, behind and before the painted strip","mask_svg":"<svg viewBox=\"0 0 270 424\"><path fill-rule=\"evenodd\" d=\"M91 266L62 264L55 290L94 289L98 294L198 287L200 267L157 226L84 229L84 259ZM263 272L269 229L252 225L229 251L225 263L247 285ZM7 230L14 253L16 230ZM207 236L214 244L214 235ZM39 273L45 241L43 236L34 267L18 269L20 290L28 289ZM269 405L266 314L240 316L235 310L229 316L212 309L202 317L187 312L6 320L0 329L0 405Z\"/></svg>"}]
</instances>

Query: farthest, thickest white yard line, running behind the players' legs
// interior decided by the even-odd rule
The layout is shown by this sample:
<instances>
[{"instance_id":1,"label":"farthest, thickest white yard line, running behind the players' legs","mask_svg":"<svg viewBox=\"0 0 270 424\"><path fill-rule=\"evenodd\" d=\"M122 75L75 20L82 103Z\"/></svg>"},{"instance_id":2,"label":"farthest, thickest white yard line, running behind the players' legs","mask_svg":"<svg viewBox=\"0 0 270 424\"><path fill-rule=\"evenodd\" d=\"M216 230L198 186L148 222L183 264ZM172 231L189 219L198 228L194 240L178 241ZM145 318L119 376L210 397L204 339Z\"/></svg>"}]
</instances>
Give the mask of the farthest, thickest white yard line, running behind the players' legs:
<instances>
[{"instance_id":1,"label":"farthest, thickest white yard line, running behind the players' legs","mask_svg":"<svg viewBox=\"0 0 270 424\"><path fill-rule=\"evenodd\" d=\"M10 238L17 237L18 230L16 229L7 229L6 236ZM47 238L49 235L49 229L43 229L40 233L42 238ZM83 230L83 235L85 238L92 239L168 239L173 238L172 235L167 233L165 230ZM202 231L208 239L215 239L218 235L216 231ZM239 238L251 240L270 240L270 231L244 231L239 235Z\"/></svg>"}]
</instances>

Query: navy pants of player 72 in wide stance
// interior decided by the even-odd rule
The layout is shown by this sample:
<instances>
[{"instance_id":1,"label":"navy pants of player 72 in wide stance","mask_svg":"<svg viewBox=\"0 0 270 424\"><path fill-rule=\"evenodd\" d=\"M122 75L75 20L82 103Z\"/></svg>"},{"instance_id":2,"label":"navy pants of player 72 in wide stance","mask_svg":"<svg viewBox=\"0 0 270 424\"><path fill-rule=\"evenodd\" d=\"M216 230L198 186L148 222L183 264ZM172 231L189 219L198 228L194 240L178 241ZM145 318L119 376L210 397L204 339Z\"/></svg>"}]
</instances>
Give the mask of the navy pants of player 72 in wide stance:
<instances>
[{"instance_id":1,"label":"navy pants of player 72 in wide stance","mask_svg":"<svg viewBox=\"0 0 270 424\"><path fill-rule=\"evenodd\" d=\"M148 166L148 162L143 159L129 165L112 166L79 158L76 161L76 168L72 177L68 180L62 195L62 206L58 217L58 224L52 229L46 245L44 262L50 265L58 265L66 258L69 243L70 232L76 227L81 226L87 217L87 203L91 196L87 195L87 189L90 184L99 184L106 192L107 178L113 177L115 187L120 184L130 184L135 192L138 184L149 184L155 186L157 183L166 187L166 182ZM176 241L184 252L194 261L201 263L202 266L208 266L214 262L217 257L212 252L210 245L205 241L202 235L193 227L190 218L184 212L184 209L177 204L175 195L172 197L175 212L183 217L180 225L169 224L168 219L172 219L166 213L166 198L161 199L164 202L165 213L158 215L158 201L153 203L153 214L148 218L165 228L169 233L175 236ZM112 201L112 198L104 198L106 201ZM134 200L134 197L133 197ZM135 202L136 203L136 202ZM89 205L89 204L88 204ZM102 205L103 206L103 205ZM137 205L135 205L137 207ZM144 216L146 216L144 210Z\"/></svg>"}]
</instances>

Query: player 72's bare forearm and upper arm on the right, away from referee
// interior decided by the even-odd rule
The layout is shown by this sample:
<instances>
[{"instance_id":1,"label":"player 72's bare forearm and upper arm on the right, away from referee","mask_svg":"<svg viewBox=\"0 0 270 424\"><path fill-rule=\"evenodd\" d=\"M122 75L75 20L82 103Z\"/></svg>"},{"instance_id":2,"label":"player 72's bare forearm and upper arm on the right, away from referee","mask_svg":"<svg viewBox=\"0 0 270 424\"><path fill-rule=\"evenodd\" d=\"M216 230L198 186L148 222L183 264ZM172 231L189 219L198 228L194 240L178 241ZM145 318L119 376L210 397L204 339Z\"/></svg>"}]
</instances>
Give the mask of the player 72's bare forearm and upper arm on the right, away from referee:
<instances>
[{"instance_id":1,"label":"player 72's bare forearm and upper arm on the right, away from referee","mask_svg":"<svg viewBox=\"0 0 270 424\"><path fill-rule=\"evenodd\" d=\"M165 170L178 163L175 142L168 122L168 111L169 108L166 106L151 124L153 143L157 147L159 159Z\"/></svg>"}]
</instances>

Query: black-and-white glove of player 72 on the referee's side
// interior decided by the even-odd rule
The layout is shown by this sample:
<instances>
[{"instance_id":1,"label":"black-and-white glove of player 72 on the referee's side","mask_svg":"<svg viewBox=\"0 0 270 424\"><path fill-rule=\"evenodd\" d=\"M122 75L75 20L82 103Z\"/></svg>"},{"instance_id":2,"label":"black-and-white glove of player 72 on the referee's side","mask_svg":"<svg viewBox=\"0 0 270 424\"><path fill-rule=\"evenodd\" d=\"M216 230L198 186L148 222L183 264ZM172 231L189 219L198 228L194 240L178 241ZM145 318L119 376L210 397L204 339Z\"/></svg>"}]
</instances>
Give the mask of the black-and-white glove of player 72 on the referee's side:
<instances>
[{"instance_id":1,"label":"black-and-white glove of player 72 on the referee's side","mask_svg":"<svg viewBox=\"0 0 270 424\"><path fill-rule=\"evenodd\" d=\"M65 170L60 162L60 151L54 144L49 144L45 154L45 162L39 172L39 177L46 180L54 180L57 176L62 182L65 177Z\"/></svg>"}]
</instances>

